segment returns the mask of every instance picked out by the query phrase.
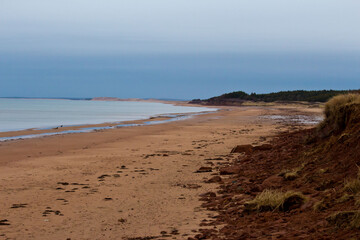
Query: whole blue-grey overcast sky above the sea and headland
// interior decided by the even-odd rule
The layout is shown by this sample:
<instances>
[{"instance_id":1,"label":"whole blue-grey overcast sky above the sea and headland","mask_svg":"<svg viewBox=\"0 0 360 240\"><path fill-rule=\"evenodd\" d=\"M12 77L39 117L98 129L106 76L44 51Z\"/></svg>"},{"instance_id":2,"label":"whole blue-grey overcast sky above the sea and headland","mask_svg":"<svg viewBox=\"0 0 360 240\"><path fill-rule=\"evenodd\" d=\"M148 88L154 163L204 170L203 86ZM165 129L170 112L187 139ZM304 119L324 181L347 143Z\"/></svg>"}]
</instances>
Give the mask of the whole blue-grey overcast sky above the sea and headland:
<instances>
[{"instance_id":1,"label":"whole blue-grey overcast sky above the sea and headland","mask_svg":"<svg viewBox=\"0 0 360 240\"><path fill-rule=\"evenodd\" d=\"M360 88L358 0L0 0L0 97Z\"/></svg>"}]
</instances>

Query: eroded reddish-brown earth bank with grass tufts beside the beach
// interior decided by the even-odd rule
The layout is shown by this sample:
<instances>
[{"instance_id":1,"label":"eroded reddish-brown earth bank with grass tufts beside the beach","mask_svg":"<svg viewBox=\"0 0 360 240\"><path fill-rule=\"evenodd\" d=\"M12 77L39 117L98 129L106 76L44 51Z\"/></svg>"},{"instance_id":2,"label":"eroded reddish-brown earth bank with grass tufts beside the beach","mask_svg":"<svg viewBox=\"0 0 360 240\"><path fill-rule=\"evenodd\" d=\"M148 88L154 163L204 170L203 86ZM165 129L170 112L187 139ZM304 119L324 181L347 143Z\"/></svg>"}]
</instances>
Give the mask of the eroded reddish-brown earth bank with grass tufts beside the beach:
<instances>
[{"instance_id":1,"label":"eroded reddish-brown earth bank with grass tufts beside the beach","mask_svg":"<svg viewBox=\"0 0 360 240\"><path fill-rule=\"evenodd\" d=\"M203 225L225 227L202 230L196 238L360 236L357 101L340 103L316 128L280 134L264 148L234 149L231 165L219 171L221 190L202 196L203 206L219 214Z\"/></svg>"}]
</instances>

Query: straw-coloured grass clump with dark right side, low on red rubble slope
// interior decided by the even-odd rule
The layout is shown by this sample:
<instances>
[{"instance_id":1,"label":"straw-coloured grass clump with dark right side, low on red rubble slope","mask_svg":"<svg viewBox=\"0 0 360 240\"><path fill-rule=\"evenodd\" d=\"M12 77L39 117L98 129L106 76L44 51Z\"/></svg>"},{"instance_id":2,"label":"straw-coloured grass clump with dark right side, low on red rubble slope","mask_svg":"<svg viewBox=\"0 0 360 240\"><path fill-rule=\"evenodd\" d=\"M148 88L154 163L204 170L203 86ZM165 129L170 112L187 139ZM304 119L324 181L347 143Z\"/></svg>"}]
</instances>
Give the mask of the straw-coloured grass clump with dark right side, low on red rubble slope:
<instances>
[{"instance_id":1,"label":"straw-coloured grass clump with dark right side, low on red rubble slope","mask_svg":"<svg viewBox=\"0 0 360 240\"><path fill-rule=\"evenodd\" d=\"M278 190L265 189L253 200L245 203L248 211L288 211L300 207L306 201L305 196L300 192L281 192Z\"/></svg>"}]
</instances>

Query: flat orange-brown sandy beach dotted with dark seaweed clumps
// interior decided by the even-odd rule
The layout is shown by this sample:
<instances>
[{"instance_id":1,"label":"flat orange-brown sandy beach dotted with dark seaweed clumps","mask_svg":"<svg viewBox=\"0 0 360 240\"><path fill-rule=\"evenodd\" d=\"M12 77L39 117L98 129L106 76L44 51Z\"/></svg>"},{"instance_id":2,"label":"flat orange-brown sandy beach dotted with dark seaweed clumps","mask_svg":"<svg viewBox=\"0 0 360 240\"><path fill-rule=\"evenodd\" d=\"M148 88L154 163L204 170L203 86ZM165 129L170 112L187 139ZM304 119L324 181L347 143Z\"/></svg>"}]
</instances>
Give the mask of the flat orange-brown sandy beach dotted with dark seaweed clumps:
<instances>
[{"instance_id":1,"label":"flat orange-brown sandy beach dotted with dark seaweed clumps","mask_svg":"<svg viewBox=\"0 0 360 240\"><path fill-rule=\"evenodd\" d=\"M0 239L192 237L216 214L199 196L217 190L204 181L231 149L313 126L278 117L299 115L321 109L222 107L159 125L1 142Z\"/></svg>"}]
</instances>

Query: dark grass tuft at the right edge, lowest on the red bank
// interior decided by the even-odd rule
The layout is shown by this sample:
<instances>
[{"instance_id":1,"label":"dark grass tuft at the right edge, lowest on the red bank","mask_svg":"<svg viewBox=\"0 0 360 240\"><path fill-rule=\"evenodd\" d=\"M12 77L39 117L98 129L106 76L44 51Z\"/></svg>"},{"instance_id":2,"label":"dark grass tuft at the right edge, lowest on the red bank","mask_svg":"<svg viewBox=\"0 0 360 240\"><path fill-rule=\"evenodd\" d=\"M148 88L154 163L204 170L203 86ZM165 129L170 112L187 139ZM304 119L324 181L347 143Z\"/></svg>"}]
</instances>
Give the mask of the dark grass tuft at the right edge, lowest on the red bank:
<instances>
[{"instance_id":1,"label":"dark grass tuft at the right edge, lowest on the red bank","mask_svg":"<svg viewBox=\"0 0 360 240\"><path fill-rule=\"evenodd\" d=\"M359 211L337 212L327 217L326 220L338 228L360 228Z\"/></svg>"}]
</instances>

